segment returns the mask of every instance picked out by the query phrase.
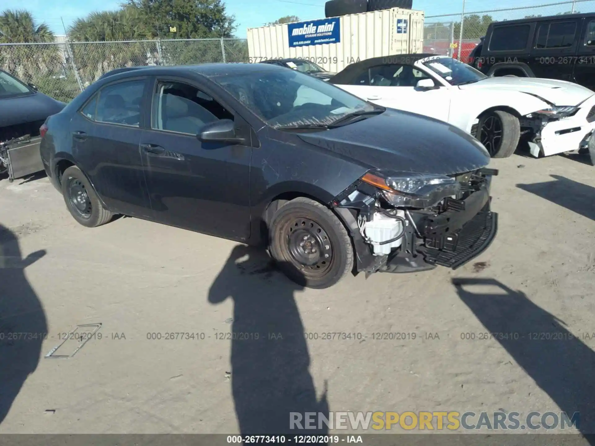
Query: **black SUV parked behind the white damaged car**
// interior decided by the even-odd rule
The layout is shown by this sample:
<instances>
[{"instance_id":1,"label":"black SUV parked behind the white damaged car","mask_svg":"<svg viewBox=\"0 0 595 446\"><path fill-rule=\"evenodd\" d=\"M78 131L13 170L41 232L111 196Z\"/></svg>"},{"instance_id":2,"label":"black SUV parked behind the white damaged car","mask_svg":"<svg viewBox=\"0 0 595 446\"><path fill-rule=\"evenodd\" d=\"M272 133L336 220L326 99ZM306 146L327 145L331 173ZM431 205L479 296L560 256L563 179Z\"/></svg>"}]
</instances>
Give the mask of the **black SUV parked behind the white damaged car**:
<instances>
[{"instance_id":1,"label":"black SUV parked behind the white damaged car","mask_svg":"<svg viewBox=\"0 0 595 446\"><path fill-rule=\"evenodd\" d=\"M491 23L470 61L487 76L543 77L595 90L595 12Z\"/></svg>"}]
</instances>

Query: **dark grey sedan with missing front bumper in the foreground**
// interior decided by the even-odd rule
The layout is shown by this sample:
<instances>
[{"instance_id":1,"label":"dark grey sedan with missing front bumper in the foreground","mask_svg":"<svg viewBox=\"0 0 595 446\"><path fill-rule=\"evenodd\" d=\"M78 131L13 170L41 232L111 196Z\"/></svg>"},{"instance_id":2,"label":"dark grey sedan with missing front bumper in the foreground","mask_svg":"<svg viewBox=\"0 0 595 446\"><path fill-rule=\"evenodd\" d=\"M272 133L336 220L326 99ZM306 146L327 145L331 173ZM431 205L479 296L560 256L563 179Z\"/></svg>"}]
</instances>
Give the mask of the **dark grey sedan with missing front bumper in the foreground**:
<instances>
[{"instance_id":1,"label":"dark grey sedan with missing front bumper in the foreground","mask_svg":"<svg viewBox=\"0 0 595 446\"><path fill-rule=\"evenodd\" d=\"M496 235L477 140L295 70L125 71L45 126L46 172L80 224L123 214L264 244L308 287L456 268Z\"/></svg>"}]
</instances>

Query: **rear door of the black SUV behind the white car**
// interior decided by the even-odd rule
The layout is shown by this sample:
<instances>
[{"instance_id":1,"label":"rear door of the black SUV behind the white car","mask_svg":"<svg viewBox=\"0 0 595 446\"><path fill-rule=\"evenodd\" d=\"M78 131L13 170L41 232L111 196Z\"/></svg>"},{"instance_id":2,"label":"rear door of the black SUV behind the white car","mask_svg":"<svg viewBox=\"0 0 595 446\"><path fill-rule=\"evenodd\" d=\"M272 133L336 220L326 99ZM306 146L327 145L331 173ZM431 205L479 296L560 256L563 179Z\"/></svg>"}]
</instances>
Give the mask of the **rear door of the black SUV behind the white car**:
<instances>
[{"instance_id":1,"label":"rear door of the black SUV behind the white car","mask_svg":"<svg viewBox=\"0 0 595 446\"><path fill-rule=\"evenodd\" d=\"M572 81L582 18L560 18L537 23L531 48L536 77Z\"/></svg>"}]
</instances>

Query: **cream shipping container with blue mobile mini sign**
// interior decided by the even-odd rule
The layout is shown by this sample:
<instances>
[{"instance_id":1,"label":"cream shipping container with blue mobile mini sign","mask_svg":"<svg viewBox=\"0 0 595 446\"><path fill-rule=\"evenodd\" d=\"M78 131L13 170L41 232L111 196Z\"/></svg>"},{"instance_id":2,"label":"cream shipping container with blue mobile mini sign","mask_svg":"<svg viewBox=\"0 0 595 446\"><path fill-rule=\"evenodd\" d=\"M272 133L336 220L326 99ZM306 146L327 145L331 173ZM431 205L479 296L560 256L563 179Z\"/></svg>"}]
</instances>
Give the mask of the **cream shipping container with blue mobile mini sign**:
<instances>
[{"instance_id":1,"label":"cream shipping container with blue mobile mini sign","mask_svg":"<svg viewBox=\"0 0 595 446\"><path fill-rule=\"evenodd\" d=\"M421 53L424 12L392 8L248 29L250 62L302 58L337 73L364 59Z\"/></svg>"}]
</instances>

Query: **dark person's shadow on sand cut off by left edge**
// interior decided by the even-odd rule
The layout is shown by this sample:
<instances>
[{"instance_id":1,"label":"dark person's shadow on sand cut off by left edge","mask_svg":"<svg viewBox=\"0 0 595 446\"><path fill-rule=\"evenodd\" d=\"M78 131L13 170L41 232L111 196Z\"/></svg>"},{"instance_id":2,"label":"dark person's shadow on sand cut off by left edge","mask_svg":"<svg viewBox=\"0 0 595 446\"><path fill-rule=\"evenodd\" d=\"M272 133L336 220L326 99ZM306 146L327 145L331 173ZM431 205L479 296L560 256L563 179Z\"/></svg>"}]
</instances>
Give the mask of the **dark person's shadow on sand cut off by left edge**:
<instances>
[{"instance_id":1,"label":"dark person's shadow on sand cut off by left edge","mask_svg":"<svg viewBox=\"0 0 595 446\"><path fill-rule=\"evenodd\" d=\"M0 225L0 423L35 372L48 332L42 304L24 274L44 255L40 250L23 259L17 237Z\"/></svg>"}]
</instances>

